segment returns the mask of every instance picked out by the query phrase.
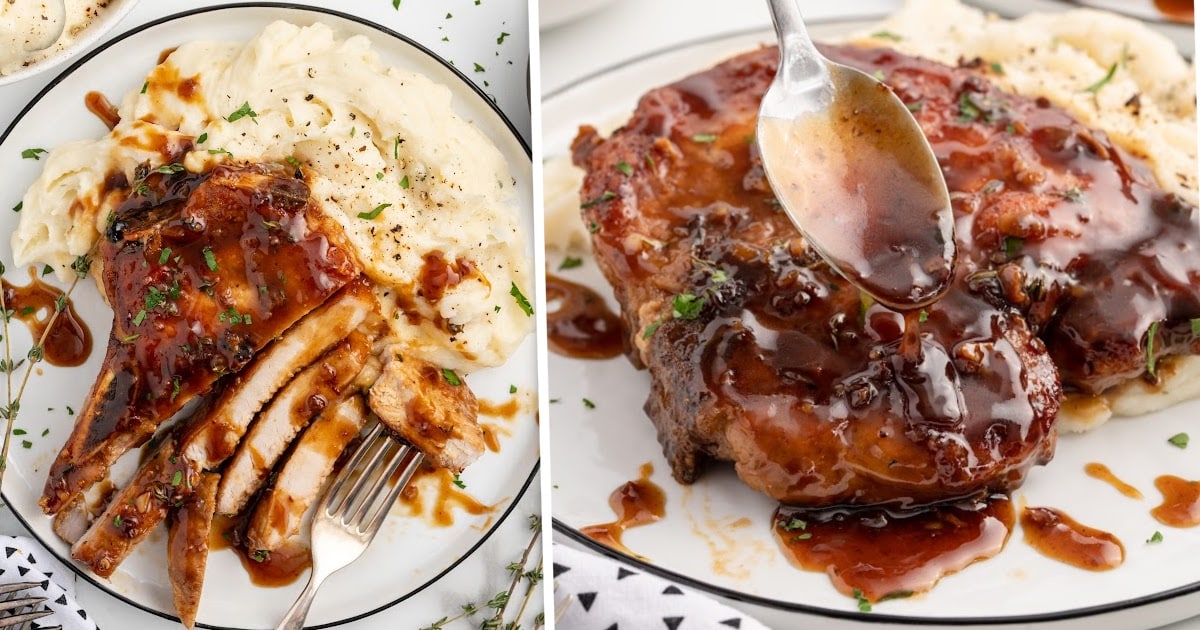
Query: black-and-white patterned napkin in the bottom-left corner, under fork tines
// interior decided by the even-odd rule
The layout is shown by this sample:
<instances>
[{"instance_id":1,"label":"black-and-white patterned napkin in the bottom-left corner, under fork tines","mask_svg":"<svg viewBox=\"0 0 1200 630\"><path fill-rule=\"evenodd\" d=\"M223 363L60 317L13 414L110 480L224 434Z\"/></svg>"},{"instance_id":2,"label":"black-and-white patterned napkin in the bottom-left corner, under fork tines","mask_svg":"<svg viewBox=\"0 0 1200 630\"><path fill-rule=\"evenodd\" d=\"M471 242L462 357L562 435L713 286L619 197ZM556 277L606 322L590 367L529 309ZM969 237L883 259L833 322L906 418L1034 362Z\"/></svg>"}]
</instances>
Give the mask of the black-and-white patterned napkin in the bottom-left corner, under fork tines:
<instances>
[{"instance_id":1,"label":"black-and-white patterned napkin in the bottom-left corner, under fork tines","mask_svg":"<svg viewBox=\"0 0 1200 630\"><path fill-rule=\"evenodd\" d=\"M54 614L32 622L30 630L62 626L62 630L96 630L96 622L74 600L74 574L36 540L0 535L0 584L37 582L16 595L46 598Z\"/></svg>"}]
</instances>

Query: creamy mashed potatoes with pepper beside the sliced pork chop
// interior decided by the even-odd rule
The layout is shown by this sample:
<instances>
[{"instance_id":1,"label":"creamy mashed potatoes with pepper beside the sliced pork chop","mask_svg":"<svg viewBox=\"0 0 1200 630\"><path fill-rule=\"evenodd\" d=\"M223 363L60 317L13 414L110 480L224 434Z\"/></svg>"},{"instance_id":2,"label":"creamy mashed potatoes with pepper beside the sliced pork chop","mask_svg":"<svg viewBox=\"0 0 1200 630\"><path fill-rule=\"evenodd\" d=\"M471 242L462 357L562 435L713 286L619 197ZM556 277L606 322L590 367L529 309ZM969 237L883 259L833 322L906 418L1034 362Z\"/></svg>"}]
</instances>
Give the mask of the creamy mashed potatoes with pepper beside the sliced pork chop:
<instances>
[{"instance_id":1,"label":"creamy mashed potatoes with pepper beside the sliced pork chop","mask_svg":"<svg viewBox=\"0 0 1200 630\"><path fill-rule=\"evenodd\" d=\"M533 295L530 263L503 156L454 114L449 89L383 67L365 37L275 23L245 44L187 43L119 113L106 137L46 158L13 234L17 264L70 274L122 200L106 192L114 174L288 163L343 226L404 352L469 372L503 362L532 329L515 296ZM430 258L463 276L439 300L421 293Z\"/></svg>"}]
</instances>

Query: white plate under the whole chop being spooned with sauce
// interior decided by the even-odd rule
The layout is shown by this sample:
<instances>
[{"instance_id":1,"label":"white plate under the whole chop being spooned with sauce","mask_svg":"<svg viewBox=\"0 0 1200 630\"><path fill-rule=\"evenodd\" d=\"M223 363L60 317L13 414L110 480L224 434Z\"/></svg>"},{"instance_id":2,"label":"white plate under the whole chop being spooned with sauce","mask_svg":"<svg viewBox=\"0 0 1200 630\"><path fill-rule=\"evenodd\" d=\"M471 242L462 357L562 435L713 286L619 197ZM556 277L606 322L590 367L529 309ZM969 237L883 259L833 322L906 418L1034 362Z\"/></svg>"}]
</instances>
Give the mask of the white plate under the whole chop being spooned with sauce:
<instances>
[{"instance_id":1,"label":"white plate under the whole chop being spooned with sauce","mask_svg":"<svg viewBox=\"0 0 1200 630\"><path fill-rule=\"evenodd\" d=\"M812 28L814 36L846 32L848 24ZM646 90L712 66L731 54L770 41L745 34L684 46L611 68L550 95L542 108L547 158L565 155L580 124L604 128L628 118ZM590 260L553 271L608 296L612 292ZM806 620L826 628L856 622L902 624L1032 624L1090 626L1103 617L1112 628L1147 628L1200 613L1200 528L1172 529L1148 511L1158 505L1153 480L1175 474L1200 479L1196 444L1181 450L1166 438L1196 432L1200 401L1146 418L1114 420L1086 436L1063 436L1055 460L1034 469L1015 493L1016 505L1048 505L1120 538L1126 562L1109 572L1090 572L1034 552L1020 530L996 558L942 580L930 593L878 604L860 613L822 574L794 569L772 536L776 504L745 487L727 464L713 466L685 487L671 478L654 427L642 404L649 378L624 358L588 361L550 354L552 505L557 533L577 545L613 554L578 533L611 522L608 494L637 479L650 462L652 480L666 492L666 517L629 529L625 545L649 559L624 558L665 577L727 598L779 628ZM587 408L582 398L595 404ZM1088 462L1108 464L1146 498L1122 497L1084 474ZM1145 541L1162 530L1162 544ZM1186 559L1184 559L1186 558Z\"/></svg>"}]
</instances>

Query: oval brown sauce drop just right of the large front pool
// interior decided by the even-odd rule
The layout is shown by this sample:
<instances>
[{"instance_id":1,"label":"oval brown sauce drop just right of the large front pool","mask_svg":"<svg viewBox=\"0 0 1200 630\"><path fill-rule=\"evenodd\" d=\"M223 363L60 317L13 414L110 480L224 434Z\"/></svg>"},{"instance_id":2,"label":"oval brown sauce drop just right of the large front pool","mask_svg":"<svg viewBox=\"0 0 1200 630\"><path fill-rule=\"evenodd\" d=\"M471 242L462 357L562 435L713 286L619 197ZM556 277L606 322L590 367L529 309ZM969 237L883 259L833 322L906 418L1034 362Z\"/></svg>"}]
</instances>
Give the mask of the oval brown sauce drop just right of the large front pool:
<instances>
[{"instance_id":1,"label":"oval brown sauce drop just right of the large front pool","mask_svg":"<svg viewBox=\"0 0 1200 630\"><path fill-rule=\"evenodd\" d=\"M1088 571L1124 563L1124 546L1112 534L1085 526L1054 508L1021 510L1025 541L1038 553Z\"/></svg>"}]
</instances>

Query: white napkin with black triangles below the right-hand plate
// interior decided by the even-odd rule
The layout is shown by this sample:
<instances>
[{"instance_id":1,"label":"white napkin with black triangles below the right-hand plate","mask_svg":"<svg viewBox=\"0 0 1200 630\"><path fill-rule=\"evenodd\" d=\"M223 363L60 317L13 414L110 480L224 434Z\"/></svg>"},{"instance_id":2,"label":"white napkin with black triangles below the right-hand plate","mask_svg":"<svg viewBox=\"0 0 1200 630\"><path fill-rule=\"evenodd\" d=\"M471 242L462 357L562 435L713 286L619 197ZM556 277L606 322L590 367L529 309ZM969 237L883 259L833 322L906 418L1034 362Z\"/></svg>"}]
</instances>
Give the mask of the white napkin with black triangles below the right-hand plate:
<instances>
[{"instance_id":1,"label":"white napkin with black triangles below the right-hand plate","mask_svg":"<svg viewBox=\"0 0 1200 630\"><path fill-rule=\"evenodd\" d=\"M608 558L554 545L562 630L767 630L714 599Z\"/></svg>"}]
</instances>

